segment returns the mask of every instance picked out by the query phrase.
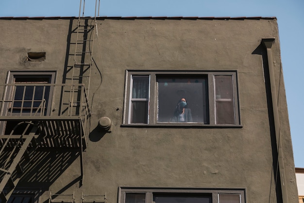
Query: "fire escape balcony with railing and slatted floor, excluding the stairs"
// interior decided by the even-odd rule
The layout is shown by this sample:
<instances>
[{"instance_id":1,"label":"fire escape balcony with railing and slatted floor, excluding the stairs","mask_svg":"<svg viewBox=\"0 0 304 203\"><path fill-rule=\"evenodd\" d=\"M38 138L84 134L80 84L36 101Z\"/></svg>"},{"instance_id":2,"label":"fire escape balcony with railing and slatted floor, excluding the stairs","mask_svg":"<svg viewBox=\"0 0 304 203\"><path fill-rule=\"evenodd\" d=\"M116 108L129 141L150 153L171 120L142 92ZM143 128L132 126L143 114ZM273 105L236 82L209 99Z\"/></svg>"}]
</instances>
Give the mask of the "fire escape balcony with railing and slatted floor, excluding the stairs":
<instances>
[{"instance_id":1,"label":"fire escape balcony with railing and slatted floor, excluding the stairs","mask_svg":"<svg viewBox=\"0 0 304 203\"><path fill-rule=\"evenodd\" d=\"M0 94L1 148L21 145L34 126L37 149L86 148L90 108L84 85L4 84Z\"/></svg>"}]
</instances>

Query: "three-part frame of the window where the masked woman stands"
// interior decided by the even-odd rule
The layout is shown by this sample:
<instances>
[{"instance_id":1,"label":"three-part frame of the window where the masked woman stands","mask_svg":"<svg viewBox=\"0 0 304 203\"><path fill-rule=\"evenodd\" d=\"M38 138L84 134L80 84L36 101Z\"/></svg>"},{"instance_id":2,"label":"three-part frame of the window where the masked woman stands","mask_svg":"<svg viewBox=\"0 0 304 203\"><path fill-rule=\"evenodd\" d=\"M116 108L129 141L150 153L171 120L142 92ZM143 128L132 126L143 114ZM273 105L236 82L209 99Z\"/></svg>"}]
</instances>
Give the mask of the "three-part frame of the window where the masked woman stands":
<instances>
[{"instance_id":1,"label":"three-part frame of the window where the masked woman stands","mask_svg":"<svg viewBox=\"0 0 304 203\"><path fill-rule=\"evenodd\" d=\"M137 124L131 123L131 98L132 98L132 76L133 75L149 75L149 111L148 111L148 123L147 124ZM206 123L170 123L170 122L158 122L158 86L157 86L157 76L185 76L186 75L201 75L202 78L207 78L208 96L207 99L207 122ZM216 123L216 109L215 109L215 75L231 75L233 80L233 108L235 114L235 124L217 124ZM189 127L242 127L240 119L239 110L239 96L238 96L238 81L237 81L237 71L126 71L125 78L125 96L124 96L124 111L122 126L189 126Z\"/></svg>"}]
</instances>

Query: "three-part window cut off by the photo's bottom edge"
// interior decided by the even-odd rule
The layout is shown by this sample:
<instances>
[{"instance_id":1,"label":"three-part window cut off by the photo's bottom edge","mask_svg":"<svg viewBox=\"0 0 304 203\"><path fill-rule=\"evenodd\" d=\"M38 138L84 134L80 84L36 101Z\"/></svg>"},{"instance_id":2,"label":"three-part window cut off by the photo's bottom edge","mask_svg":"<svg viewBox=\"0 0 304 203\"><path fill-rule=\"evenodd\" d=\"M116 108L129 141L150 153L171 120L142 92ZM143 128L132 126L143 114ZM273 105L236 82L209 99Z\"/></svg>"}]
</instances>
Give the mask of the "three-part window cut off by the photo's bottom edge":
<instances>
[{"instance_id":1,"label":"three-part window cut off by the photo's bottom edge","mask_svg":"<svg viewBox=\"0 0 304 203\"><path fill-rule=\"evenodd\" d=\"M245 203L245 190L120 187L118 203Z\"/></svg>"}]
</instances>

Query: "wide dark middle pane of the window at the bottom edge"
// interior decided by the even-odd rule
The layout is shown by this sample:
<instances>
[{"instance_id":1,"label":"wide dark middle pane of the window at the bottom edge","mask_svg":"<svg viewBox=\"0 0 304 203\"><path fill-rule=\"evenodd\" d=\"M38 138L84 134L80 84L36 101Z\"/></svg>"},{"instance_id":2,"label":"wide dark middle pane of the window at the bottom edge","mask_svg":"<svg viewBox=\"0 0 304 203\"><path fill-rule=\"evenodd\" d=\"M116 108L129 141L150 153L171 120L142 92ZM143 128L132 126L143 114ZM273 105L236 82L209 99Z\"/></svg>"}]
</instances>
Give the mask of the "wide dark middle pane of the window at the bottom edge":
<instances>
[{"instance_id":1,"label":"wide dark middle pane of the window at the bottom edge","mask_svg":"<svg viewBox=\"0 0 304 203\"><path fill-rule=\"evenodd\" d=\"M210 196L155 196L155 203L211 203Z\"/></svg>"}]
</instances>

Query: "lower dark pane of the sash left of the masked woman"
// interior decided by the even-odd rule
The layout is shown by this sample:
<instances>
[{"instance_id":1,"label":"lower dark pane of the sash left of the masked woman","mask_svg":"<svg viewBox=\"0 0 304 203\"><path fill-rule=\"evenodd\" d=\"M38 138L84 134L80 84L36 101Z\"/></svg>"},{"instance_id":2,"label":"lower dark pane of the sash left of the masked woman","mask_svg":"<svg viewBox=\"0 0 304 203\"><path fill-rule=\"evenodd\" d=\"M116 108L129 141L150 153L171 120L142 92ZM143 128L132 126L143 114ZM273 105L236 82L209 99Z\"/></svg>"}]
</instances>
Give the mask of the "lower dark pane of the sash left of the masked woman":
<instances>
[{"instance_id":1,"label":"lower dark pane of the sash left of the masked woman","mask_svg":"<svg viewBox=\"0 0 304 203\"><path fill-rule=\"evenodd\" d=\"M148 102L133 101L131 107L131 123L148 123Z\"/></svg>"}]
</instances>

